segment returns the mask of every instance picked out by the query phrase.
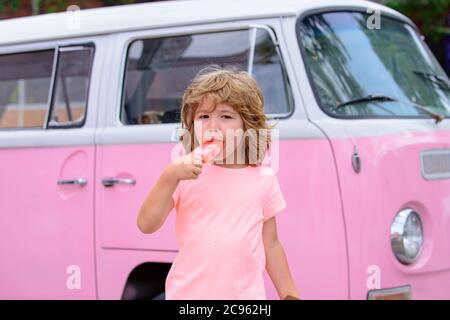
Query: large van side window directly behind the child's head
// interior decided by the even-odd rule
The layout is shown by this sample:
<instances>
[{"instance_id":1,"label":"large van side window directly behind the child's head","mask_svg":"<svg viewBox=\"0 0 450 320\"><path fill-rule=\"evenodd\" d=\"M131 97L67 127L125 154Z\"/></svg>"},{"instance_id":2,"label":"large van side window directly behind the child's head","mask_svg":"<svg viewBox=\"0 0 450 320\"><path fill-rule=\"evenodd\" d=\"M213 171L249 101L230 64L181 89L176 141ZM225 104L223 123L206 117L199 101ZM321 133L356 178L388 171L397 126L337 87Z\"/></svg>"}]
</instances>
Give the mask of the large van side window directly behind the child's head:
<instances>
[{"instance_id":1,"label":"large van side window directly behind the child's head","mask_svg":"<svg viewBox=\"0 0 450 320\"><path fill-rule=\"evenodd\" d=\"M250 71L263 90L266 113L288 112L288 84L275 44L267 30L256 29L256 37L251 28L133 41L127 53L122 123L180 122L184 89L209 64Z\"/></svg>"}]
</instances>

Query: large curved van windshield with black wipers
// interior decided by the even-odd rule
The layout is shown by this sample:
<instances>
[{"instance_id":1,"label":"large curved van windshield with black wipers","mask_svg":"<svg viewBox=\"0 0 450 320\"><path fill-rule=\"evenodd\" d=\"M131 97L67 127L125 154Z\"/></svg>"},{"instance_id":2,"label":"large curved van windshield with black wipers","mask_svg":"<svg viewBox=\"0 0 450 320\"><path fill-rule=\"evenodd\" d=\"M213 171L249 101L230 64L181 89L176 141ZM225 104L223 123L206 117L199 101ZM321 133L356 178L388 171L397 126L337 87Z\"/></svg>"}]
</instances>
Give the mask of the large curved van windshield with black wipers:
<instances>
[{"instance_id":1,"label":"large curved van windshield with black wipers","mask_svg":"<svg viewBox=\"0 0 450 320\"><path fill-rule=\"evenodd\" d=\"M329 12L299 20L296 32L319 105L330 116L430 116L415 105L450 116L450 81L405 22ZM377 95L393 99L364 99Z\"/></svg>"}]
</instances>

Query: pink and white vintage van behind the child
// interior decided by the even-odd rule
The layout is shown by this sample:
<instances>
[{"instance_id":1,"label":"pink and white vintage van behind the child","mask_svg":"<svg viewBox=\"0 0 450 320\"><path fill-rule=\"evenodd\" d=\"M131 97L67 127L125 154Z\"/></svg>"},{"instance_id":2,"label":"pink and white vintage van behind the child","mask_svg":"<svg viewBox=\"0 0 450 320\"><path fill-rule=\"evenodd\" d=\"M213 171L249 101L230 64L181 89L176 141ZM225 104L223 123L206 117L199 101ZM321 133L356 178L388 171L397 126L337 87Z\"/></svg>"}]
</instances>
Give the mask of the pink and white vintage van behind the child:
<instances>
[{"instance_id":1,"label":"pink and white vintage van behind the child","mask_svg":"<svg viewBox=\"0 0 450 320\"><path fill-rule=\"evenodd\" d=\"M278 123L277 224L301 297L450 299L450 86L407 17L174 1L0 34L0 298L164 299L176 213L154 234L136 217L184 88L216 63L248 70Z\"/></svg>"}]
</instances>

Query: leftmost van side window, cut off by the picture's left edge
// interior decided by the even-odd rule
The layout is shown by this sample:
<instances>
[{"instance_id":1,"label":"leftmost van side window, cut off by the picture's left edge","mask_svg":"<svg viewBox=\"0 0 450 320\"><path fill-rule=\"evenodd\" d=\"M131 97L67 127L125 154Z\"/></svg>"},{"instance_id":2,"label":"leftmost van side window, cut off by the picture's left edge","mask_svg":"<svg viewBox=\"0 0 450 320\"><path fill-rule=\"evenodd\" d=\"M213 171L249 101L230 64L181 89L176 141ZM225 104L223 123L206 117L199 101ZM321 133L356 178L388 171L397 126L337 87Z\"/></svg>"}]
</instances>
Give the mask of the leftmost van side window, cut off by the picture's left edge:
<instances>
[{"instance_id":1,"label":"leftmost van side window, cut off by the picture's left edge","mask_svg":"<svg viewBox=\"0 0 450 320\"><path fill-rule=\"evenodd\" d=\"M0 55L0 129L42 128L54 50Z\"/></svg>"}]
</instances>

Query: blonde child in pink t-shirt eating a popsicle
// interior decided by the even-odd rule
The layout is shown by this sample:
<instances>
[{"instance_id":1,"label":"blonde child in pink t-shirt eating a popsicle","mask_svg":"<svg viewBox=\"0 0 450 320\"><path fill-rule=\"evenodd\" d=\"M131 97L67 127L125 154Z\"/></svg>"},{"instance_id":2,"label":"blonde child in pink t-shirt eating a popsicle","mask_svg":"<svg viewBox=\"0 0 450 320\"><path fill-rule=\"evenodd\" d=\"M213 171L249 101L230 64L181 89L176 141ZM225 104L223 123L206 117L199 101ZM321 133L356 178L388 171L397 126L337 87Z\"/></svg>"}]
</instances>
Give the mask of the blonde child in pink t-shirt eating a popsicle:
<instances>
[{"instance_id":1,"label":"blonde child in pink t-shirt eating a popsicle","mask_svg":"<svg viewBox=\"0 0 450 320\"><path fill-rule=\"evenodd\" d=\"M183 94L180 140L188 153L167 165L137 221L153 233L176 208L180 251L167 275L167 300L266 299L265 268L281 299L299 299L274 217L286 202L273 171L261 165L270 146L263 105L248 73L218 66L200 70ZM203 165L192 151L211 141L222 148Z\"/></svg>"}]
</instances>

